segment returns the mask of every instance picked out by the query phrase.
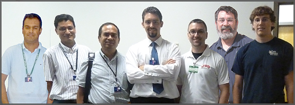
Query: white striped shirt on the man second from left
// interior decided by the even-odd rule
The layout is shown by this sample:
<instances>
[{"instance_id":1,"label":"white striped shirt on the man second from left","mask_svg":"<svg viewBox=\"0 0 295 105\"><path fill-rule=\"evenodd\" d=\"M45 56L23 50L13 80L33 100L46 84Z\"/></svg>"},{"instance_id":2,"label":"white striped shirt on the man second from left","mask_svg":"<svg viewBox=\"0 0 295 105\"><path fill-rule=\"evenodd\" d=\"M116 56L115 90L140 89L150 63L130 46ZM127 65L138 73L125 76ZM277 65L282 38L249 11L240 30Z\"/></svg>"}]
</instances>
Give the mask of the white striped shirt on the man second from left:
<instances>
[{"instance_id":1,"label":"white striped shirt on the man second from left","mask_svg":"<svg viewBox=\"0 0 295 105\"><path fill-rule=\"evenodd\" d=\"M62 43L59 44L47 49L43 54L45 80L53 81L49 98L52 100L76 100L79 87L73 80L73 76L75 76L73 69L78 73L82 62L88 59L88 53L91 50L83 45L76 44L73 48L68 48ZM77 50L78 65L76 64ZM71 62L73 69L69 62Z\"/></svg>"}]
</instances>

